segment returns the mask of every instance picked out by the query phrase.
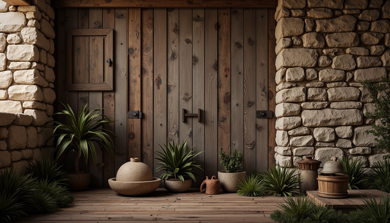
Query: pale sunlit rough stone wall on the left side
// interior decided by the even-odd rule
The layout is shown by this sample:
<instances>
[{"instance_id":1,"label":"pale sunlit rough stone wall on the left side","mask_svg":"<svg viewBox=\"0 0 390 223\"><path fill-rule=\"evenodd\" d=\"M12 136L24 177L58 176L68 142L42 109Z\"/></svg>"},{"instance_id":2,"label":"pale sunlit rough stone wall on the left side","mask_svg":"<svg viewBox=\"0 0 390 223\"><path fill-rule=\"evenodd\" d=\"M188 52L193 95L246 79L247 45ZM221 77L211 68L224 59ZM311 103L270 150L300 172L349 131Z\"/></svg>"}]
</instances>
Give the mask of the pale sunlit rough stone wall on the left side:
<instances>
[{"instance_id":1,"label":"pale sunlit rough stone wall on the left side","mask_svg":"<svg viewBox=\"0 0 390 223\"><path fill-rule=\"evenodd\" d=\"M0 168L25 171L40 159L55 93L54 11L50 0L13 6L0 0Z\"/></svg>"}]
</instances>

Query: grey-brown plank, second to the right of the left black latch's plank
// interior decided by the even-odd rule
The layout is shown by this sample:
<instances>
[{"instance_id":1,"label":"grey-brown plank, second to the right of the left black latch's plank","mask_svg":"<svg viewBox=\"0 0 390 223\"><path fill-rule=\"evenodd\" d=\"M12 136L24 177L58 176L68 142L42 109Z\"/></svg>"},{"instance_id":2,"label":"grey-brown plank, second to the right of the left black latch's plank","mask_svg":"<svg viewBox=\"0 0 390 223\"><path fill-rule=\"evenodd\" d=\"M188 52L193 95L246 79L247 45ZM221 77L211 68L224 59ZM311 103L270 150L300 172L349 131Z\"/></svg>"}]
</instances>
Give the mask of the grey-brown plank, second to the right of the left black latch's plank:
<instances>
[{"instance_id":1,"label":"grey-brown plank, second to the right of the left black latch's plank","mask_svg":"<svg viewBox=\"0 0 390 223\"><path fill-rule=\"evenodd\" d=\"M161 151L158 144L167 143L167 9L154 9L153 18L153 150Z\"/></svg>"}]
</instances>

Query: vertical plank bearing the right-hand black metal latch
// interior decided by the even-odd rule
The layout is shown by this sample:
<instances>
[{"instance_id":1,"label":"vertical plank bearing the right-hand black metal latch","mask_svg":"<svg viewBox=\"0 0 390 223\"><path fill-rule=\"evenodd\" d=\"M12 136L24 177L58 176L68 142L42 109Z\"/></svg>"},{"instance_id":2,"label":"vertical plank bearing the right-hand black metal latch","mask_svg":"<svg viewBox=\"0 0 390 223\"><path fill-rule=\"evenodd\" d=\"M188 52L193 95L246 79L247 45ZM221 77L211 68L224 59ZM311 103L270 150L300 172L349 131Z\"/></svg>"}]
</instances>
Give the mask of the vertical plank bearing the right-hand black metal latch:
<instances>
[{"instance_id":1,"label":"vertical plank bearing the right-hand black metal latch","mask_svg":"<svg viewBox=\"0 0 390 223\"><path fill-rule=\"evenodd\" d=\"M256 43L256 110L268 110L268 9L256 9ZM268 121L256 118L256 168L260 171L268 168Z\"/></svg>"}]
</instances>

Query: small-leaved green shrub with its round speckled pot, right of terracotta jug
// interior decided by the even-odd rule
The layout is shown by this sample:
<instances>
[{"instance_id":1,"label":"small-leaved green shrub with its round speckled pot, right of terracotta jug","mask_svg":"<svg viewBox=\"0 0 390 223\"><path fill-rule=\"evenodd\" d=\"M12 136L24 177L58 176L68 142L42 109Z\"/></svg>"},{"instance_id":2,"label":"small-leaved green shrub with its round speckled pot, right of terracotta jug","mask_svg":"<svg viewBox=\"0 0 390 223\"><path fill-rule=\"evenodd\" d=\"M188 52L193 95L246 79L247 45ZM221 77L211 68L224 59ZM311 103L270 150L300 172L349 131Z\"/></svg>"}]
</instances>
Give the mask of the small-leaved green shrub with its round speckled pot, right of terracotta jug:
<instances>
[{"instance_id":1,"label":"small-leaved green shrub with its round speckled pot, right of terracotta jug","mask_svg":"<svg viewBox=\"0 0 390 223\"><path fill-rule=\"evenodd\" d=\"M244 160L244 155L234 149L229 155L222 148L219 151L220 164L225 168L225 171L218 171L218 180L221 183L221 189L228 193L237 191L238 182L246 176L245 171L241 171Z\"/></svg>"}]
</instances>

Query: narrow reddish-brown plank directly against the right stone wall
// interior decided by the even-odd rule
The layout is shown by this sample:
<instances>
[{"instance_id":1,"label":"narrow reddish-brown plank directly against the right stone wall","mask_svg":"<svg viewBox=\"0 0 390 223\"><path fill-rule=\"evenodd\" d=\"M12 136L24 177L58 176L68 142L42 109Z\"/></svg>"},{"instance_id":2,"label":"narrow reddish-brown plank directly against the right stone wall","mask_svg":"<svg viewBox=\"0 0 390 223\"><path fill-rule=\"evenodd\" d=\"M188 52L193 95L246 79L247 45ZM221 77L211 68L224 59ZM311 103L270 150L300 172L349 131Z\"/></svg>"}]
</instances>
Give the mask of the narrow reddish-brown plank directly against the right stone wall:
<instances>
[{"instance_id":1,"label":"narrow reddish-brown plank directly against the right stone wall","mask_svg":"<svg viewBox=\"0 0 390 223\"><path fill-rule=\"evenodd\" d=\"M260 10L260 9L257 9ZM262 9L266 10L266 9ZM276 9L268 9L268 53L264 55L268 55L268 109L275 112L275 95L276 95L276 83L275 83L275 60L276 54L274 54L276 41L275 41L275 27L276 21L274 19ZM264 12L264 17L267 15ZM266 21L264 21L266 22ZM264 23L264 24L267 24ZM264 50L265 52L265 50ZM265 100L265 99L264 99ZM271 165L275 165L275 151L274 148L277 146L275 142L276 137L276 117L268 119L268 167Z\"/></svg>"}]
</instances>

